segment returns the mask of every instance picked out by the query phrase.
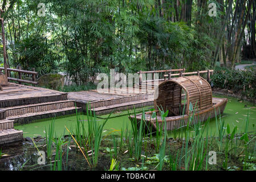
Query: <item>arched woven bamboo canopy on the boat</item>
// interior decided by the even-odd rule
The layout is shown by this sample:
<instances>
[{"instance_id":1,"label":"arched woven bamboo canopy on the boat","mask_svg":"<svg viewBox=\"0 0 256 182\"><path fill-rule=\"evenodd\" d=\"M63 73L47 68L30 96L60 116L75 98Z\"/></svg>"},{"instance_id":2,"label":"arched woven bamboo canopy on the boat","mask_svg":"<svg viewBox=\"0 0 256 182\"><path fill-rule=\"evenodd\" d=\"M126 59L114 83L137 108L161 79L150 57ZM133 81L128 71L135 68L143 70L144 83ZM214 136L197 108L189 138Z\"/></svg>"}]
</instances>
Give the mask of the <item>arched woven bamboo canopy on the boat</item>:
<instances>
[{"instance_id":1,"label":"arched woven bamboo canopy on the boat","mask_svg":"<svg viewBox=\"0 0 256 182\"><path fill-rule=\"evenodd\" d=\"M155 109L159 110L160 107L164 111L169 110L169 116L189 114L190 102L197 111L212 106L212 88L200 76L177 77L164 81L155 92Z\"/></svg>"}]
</instances>

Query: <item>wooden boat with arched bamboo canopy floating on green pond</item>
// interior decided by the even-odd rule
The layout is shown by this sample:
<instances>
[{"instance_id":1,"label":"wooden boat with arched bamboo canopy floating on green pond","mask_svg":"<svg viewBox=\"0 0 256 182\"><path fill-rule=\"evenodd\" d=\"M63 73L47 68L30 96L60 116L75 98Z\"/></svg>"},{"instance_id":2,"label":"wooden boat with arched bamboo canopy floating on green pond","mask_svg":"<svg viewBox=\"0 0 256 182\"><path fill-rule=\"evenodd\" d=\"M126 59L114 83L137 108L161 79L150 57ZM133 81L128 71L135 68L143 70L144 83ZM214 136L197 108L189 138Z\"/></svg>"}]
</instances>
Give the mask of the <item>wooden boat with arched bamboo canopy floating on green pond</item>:
<instances>
[{"instance_id":1,"label":"wooden boat with arched bamboo canopy floating on green pond","mask_svg":"<svg viewBox=\"0 0 256 182\"><path fill-rule=\"evenodd\" d=\"M177 77L164 81L155 89L154 97L155 111L145 113L143 120L155 130L157 122L159 125L163 124L159 108L164 112L168 110L165 118L167 130L173 130L186 126L191 117L194 118L190 125L214 118L223 113L227 104L227 98L212 97L210 84L200 76ZM152 117L154 112L155 118ZM142 117L143 114L136 114L129 119L140 122Z\"/></svg>"}]
</instances>

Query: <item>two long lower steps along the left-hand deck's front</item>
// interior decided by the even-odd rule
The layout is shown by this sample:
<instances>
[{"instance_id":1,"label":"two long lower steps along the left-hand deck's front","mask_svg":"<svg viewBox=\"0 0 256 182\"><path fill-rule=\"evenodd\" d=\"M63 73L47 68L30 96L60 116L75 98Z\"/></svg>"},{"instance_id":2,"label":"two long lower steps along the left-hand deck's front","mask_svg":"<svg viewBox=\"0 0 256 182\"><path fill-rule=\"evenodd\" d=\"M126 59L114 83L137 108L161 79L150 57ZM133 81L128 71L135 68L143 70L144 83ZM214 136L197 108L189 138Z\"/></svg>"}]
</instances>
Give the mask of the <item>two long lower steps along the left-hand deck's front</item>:
<instances>
[{"instance_id":1,"label":"two long lower steps along the left-hand deck's front","mask_svg":"<svg viewBox=\"0 0 256 182\"><path fill-rule=\"evenodd\" d=\"M5 108L6 119L14 120L14 123L29 123L37 119L58 117L60 115L74 114L76 109L74 101L55 101L39 104L14 106Z\"/></svg>"}]
</instances>

